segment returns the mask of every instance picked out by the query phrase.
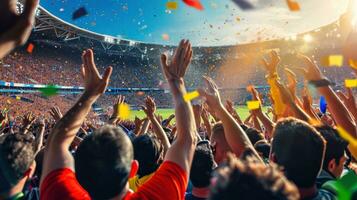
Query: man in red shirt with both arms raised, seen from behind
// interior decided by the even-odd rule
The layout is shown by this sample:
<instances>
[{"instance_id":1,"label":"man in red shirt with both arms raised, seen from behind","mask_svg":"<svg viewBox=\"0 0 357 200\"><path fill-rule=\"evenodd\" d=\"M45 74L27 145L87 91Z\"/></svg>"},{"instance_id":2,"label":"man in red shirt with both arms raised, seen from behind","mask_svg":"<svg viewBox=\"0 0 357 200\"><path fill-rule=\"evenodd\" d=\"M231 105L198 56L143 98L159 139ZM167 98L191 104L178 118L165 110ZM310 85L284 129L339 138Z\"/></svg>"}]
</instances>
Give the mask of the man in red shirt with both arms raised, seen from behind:
<instances>
[{"instance_id":1,"label":"man in red shirt with both arms raised, seen from behind","mask_svg":"<svg viewBox=\"0 0 357 200\"><path fill-rule=\"evenodd\" d=\"M92 50L83 52L82 75L85 92L79 101L58 121L46 145L41 199L184 199L196 145L192 107L184 101L183 77L192 58L191 44L182 40L172 61L161 56L163 73L175 102L177 137L155 175L136 193L128 187L138 164L125 133L104 126L87 136L79 145L75 158L68 151L92 104L103 94L112 68L103 77L95 64Z\"/></svg>"}]
</instances>

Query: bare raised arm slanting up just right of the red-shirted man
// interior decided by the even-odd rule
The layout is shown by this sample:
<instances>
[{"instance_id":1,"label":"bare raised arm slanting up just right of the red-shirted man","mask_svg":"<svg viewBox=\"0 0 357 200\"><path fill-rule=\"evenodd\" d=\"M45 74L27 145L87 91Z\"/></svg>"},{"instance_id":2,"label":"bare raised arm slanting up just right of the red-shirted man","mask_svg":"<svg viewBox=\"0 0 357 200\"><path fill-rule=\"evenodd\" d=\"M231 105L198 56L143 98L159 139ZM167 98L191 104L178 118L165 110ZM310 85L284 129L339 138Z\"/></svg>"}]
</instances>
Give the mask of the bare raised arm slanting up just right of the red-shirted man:
<instances>
[{"instance_id":1,"label":"bare raised arm slanting up just right of the red-shirted man","mask_svg":"<svg viewBox=\"0 0 357 200\"><path fill-rule=\"evenodd\" d=\"M208 106L211 107L219 119L221 119L224 127L224 135L233 153L239 157L246 150L251 150L259 159L259 154L255 151L246 133L222 104L217 85L209 77L204 77L204 80L207 85L207 90L199 89L198 91L200 95L206 99Z\"/></svg>"}]
</instances>

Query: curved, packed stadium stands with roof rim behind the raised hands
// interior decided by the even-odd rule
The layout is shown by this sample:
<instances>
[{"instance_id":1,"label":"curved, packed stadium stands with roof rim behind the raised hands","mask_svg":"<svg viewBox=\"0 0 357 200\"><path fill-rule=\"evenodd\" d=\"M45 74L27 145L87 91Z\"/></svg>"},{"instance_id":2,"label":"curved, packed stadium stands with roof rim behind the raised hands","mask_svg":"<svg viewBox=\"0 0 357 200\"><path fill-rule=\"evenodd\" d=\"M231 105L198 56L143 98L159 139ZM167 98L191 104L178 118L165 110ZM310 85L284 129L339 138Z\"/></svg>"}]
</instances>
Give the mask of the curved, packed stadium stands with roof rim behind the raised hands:
<instances>
[{"instance_id":1,"label":"curved, packed stadium stands with roof rim behind the raised hands","mask_svg":"<svg viewBox=\"0 0 357 200\"><path fill-rule=\"evenodd\" d=\"M18 9L21 10L22 7L19 3ZM297 62L294 55L298 52L312 56L317 61L326 55L339 54L343 48L342 44L348 37L345 35L346 27L342 25L349 24L350 27L347 29L352 29L352 19L350 9L331 24L287 38L267 38L268 40L264 41L257 38L256 41L241 45L194 47L194 67L190 68L186 77L188 90L194 90L200 85L200 76L213 77L223 92L224 100L230 99L237 105L243 105L240 110L246 117L249 113L244 109L244 105L251 98L246 87L255 85L263 94L269 89L264 85L265 74L260 63L262 56L271 50L278 50L286 57L282 65L287 66L286 63ZM309 38L313 40L309 41ZM172 104L167 103L170 102L168 99L171 96L162 80L160 59L157 55L163 52L172 54L174 46L143 43L94 33L57 18L41 6L37 10L36 23L28 43L36 47L33 53L27 53L25 45L1 62L2 98L5 98L5 101L11 98L16 100L16 97L25 100L18 102L25 104L21 106L24 108L22 112L28 111L27 107L37 104L37 101L41 102L37 105L51 105L51 101L66 104L76 100L77 95L83 90L80 86L81 78L78 76L78 66L81 64L78 55L88 47L95 51L98 66L102 69L106 66L114 67L114 76L105 93L106 96L98 101L95 110L106 110L118 94L126 95L134 110L142 104L143 96L146 95L153 96L160 108L172 108ZM315 45L317 43L319 45ZM48 52L51 52L51 55L48 55ZM227 58L230 58L230 63L226 62ZM14 60L18 61L14 63ZM36 63L33 60L37 60ZM239 69L236 63L240 63ZM348 61L344 64L347 66ZM240 78L233 76L238 72ZM327 73L333 82L342 83L343 80L339 78L344 76L341 75L350 74L351 70L348 67L342 67L342 70L324 68L324 73ZM143 74L145 76L142 76ZM57 85L60 96L41 99L38 89L46 85ZM267 97L264 95L264 98ZM63 106L64 110L68 108ZM49 109L48 106L43 108ZM136 114L141 116L143 113ZM165 111L163 114L165 117L169 115ZM135 114L131 117L134 116Z\"/></svg>"}]
</instances>

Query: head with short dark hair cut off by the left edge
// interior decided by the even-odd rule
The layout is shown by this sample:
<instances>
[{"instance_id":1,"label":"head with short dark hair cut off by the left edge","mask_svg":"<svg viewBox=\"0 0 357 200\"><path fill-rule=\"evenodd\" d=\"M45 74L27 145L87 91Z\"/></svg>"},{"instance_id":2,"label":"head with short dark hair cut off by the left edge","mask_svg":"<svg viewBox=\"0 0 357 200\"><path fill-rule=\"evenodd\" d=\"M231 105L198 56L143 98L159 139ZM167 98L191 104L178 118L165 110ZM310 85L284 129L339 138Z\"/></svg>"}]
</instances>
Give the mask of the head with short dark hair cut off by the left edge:
<instances>
[{"instance_id":1,"label":"head with short dark hair cut off by the left edge","mask_svg":"<svg viewBox=\"0 0 357 200\"><path fill-rule=\"evenodd\" d=\"M0 194L6 195L19 184L23 187L35 171L34 160L33 137L30 134L3 136L0 141Z\"/></svg>"}]
</instances>

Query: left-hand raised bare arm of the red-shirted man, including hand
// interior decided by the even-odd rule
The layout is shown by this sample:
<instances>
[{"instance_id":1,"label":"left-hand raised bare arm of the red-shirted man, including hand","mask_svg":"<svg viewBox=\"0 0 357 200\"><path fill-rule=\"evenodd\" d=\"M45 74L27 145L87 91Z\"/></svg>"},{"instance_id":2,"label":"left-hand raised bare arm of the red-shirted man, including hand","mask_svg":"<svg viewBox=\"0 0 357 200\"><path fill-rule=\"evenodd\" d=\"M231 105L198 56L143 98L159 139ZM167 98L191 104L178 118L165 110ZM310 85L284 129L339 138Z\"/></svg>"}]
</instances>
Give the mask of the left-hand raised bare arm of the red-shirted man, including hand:
<instances>
[{"instance_id":1,"label":"left-hand raised bare arm of the red-shirted man, including hand","mask_svg":"<svg viewBox=\"0 0 357 200\"><path fill-rule=\"evenodd\" d=\"M69 152L69 147L81 127L92 104L103 94L108 86L112 68L99 74L94 63L92 50L86 50L82 54L82 75L85 91L78 102L62 117L49 135L45 147L42 177L59 168L74 170L74 160Z\"/></svg>"}]
</instances>

